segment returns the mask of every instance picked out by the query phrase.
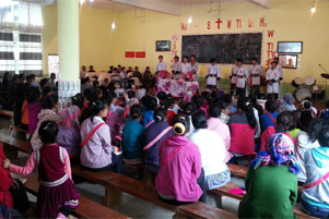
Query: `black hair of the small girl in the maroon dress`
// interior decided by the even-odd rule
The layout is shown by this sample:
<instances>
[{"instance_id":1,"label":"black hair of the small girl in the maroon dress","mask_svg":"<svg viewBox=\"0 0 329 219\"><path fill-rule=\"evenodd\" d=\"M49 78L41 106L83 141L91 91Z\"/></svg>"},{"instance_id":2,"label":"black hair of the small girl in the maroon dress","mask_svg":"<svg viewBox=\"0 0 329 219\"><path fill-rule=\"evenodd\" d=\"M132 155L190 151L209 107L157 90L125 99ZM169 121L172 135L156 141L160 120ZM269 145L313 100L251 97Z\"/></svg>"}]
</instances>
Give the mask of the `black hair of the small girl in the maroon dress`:
<instances>
[{"instance_id":1,"label":"black hair of the small girl in the maroon dress","mask_svg":"<svg viewBox=\"0 0 329 219\"><path fill-rule=\"evenodd\" d=\"M40 141L44 144L56 143L56 137L58 135L58 126L54 121L45 121L40 124L38 130Z\"/></svg>"}]
</instances>

